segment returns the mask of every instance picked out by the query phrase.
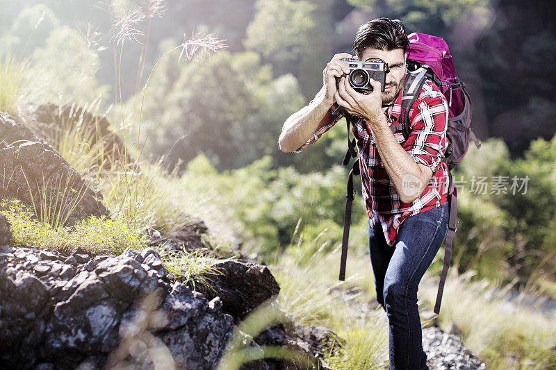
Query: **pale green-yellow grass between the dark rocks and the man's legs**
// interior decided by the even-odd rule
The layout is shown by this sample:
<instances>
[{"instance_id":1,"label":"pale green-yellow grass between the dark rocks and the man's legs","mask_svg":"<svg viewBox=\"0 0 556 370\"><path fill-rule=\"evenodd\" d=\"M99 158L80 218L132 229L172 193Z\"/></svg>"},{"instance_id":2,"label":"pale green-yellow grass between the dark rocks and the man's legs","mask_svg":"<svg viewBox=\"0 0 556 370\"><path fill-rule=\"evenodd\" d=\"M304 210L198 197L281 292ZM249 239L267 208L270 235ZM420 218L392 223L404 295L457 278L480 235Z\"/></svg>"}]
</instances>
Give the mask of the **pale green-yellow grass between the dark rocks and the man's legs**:
<instances>
[{"instance_id":1,"label":"pale green-yellow grass between the dark rocks and the man's legs","mask_svg":"<svg viewBox=\"0 0 556 370\"><path fill-rule=\"evenodd\" d=\"M382 308L364 311L360 305L374 296L370 260L348 252L347 278L341 282L341 244L332 253L324 253L329 241L323 239L318 246L314 245L318 240L298 242L283 254L277 253L270 270L280 285L279 305L291 314L296 325L327 326L345 341L334 350L328 348L325 360L332 369L382 369L388 358L386 316ZM334 290L361 287L371 291L350 301L332 294Z\"/></svg>"}]
</instances>

